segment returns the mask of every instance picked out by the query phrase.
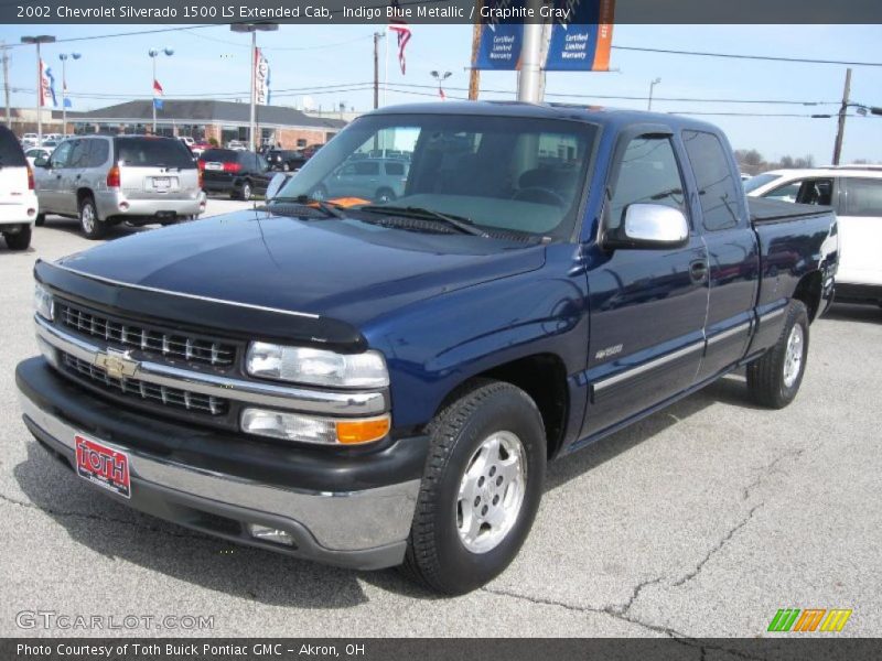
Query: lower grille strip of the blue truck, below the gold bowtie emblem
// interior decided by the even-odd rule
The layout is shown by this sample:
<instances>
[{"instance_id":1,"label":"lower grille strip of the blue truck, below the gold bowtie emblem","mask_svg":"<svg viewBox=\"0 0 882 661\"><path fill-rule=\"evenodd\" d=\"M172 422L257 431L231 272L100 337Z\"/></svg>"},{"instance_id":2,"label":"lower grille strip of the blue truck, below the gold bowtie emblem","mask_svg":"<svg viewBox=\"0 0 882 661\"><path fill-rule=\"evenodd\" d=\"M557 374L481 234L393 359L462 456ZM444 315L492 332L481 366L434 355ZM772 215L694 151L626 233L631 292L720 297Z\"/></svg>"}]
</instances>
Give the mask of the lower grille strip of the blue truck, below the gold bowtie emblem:
<instances>
[{"instance_id":1,"label":"lower grille strip of the blue truck, below the gold bowtie emblem","mask_svg":"<svg viewBox=\"0 0 882 661\"><path fill-rule=\"evenodd\" d=\"M82 360L76 356L72 356L71 354L63 353L62 360L71 373L103 388L111 394L122 393L148 402L183 409L185 411L208 413L211 415L223 415L229 409L228 400L223 398L190 392L187 390L179 390L178 388L157 386L154 383L141 381L140 379L116 379L109 377L101 368Z\"/></svg>"}]
</instances>

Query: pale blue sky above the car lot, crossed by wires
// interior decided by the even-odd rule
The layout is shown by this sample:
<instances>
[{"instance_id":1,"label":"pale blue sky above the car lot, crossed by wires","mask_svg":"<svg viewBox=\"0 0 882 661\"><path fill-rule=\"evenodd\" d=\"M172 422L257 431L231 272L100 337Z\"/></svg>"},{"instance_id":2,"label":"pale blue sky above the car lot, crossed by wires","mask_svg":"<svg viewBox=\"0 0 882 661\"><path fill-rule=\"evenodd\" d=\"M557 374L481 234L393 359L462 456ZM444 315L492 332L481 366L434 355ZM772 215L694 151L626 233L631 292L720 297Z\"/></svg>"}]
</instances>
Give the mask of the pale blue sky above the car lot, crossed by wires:
<instances>
[{"instance_id":1,"label":"pale blue sky above the car lot, crossed by wires","mask_svg":"<svg viewBox=\"0 0 882 661\"><path fill-rule=\"evenodd\" d=\"M0 40L19 43L24 34L54 34L57 39L92 37L108 33L144 30L144 25L0 25ZM155 25L155 28L164 28ZM324 110L345 102L359 110L373 104L373 42L370 25L282 25L277 33L259 35L271 67L273 104L304 101ZM394 40L389 44L390 85L433 84L432 69L450 71L450 88L466 87L472 29L469 25L415 25L407 48L407 75L398 71ZM92 109L129 98L147 98L151 88L151 47L171 47L172 57L158 61L158 78L168 97L228 93L247 102L248 36L234 34L226 25L125 39L89 39L44 46L44 59L61 79L60 53L78 52L68 61L67 82L72 94L120 95L119 99L74 98L75 109ZM761 54L786 57L882 63L882 25L616 25L614 45ZM380 53L383 58L383 51ZM10 83L13 88L35 86L34 48L10 51ZM617 73L549 73L548 100L646 108L645 100L577 99L556 94L620 95L645 97L656 77L656 97L775 99L827 102L825 106L675 102L657 100L659 111L836 113L842 96L846 67L796 63L720 59L636 53L614 50L612 67ZM381 65L381 69L385 66ZM381 73L383 76L383 73ZM349 85L345 91L323 94L315 89ZM61 83L57 91L61 93ZM304 88L308 88L304 91ZM484 72L482 98L512 99L514 73ZM289 90L289 91L282 91ZM388 91L387 104L435 100L430 88L412 93ZM464 96L448 90L448 96ZM882 66L856 66L852 100L882 106ZM32 91L12 95L13 106L32 106ZM785 154L811 154L818 164L830 161L836 119L803 117L702 117L722 127L733 147L755 148L767 159ZM843 161L869 159L882 162L882 117L850 118L846 131Z\"/></svg>"}]
</instances>

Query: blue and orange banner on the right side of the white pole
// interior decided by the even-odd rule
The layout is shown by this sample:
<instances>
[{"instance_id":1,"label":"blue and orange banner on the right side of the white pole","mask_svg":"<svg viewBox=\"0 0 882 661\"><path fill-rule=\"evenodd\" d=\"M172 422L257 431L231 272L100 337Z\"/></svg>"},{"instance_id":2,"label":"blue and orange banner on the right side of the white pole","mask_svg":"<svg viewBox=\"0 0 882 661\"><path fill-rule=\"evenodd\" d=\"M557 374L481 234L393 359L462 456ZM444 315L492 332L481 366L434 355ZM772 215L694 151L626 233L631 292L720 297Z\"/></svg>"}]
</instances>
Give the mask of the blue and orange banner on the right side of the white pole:
<instances>
[{"instance_id":1,"label":"blue and orange banner on the right side of the white pole","mask_svg":"<svg viewBox=\"0 0 882 661\"><path fill-rule=\"evenodd\" d=\"M551 28L546 71L610 71L614 0L555 0L553 4L556 9L572 11L569 20L556 20Z\"/></svg>"}]
</instances>

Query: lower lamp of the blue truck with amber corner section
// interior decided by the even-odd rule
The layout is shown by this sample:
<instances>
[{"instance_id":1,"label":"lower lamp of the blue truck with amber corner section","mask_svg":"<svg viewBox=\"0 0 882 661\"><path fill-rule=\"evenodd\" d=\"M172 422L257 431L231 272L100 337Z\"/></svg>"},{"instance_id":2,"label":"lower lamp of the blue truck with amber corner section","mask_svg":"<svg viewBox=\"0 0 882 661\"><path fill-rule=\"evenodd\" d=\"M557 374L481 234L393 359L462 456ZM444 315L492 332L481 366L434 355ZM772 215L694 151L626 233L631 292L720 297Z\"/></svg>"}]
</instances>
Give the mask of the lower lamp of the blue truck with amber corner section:
<instances>
[{"instance_id":1,"label":"lower lamp of the blue truck with amber corner section","mask_svg":"<svg viewBox=\"0 0 882 661\"><path fill-rule=\"evenodd\" d=\"M248 434L320 445L373 443L386 436L390 426L388 413L361 420L330 420L269 409L246 409L241 413L241 431Z\"/></svg>"}]
</instances>

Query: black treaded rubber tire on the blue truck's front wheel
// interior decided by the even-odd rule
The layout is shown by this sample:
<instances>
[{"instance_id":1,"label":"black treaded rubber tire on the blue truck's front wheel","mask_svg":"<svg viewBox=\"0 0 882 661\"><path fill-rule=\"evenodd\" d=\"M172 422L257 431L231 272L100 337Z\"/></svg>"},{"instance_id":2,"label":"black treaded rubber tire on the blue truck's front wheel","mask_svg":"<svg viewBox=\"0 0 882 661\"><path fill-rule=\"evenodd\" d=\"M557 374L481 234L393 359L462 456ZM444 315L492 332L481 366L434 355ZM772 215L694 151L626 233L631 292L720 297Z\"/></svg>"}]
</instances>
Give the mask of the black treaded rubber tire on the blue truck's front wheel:
<instances>
[{"instance_id":1,"label":"black treaded rubber tire on the blue truck's front wheel","mask_svg":"<svg viewBox=\"0 0 882 661\"><path fill-rule=\"evenodd\" d=\"M521 443L526 468L523 501L501 541L490 550L473 552L458 529L460 484L483 442L498 432L514 434ZM526 392L510 383L482 379L460 391L432 421L429 433L429 456L401 571L439 593L464 594L502 573L530 531L545 481L545 426ZM502 481L499 476L502 470L496 478ZM484 488L496 489L493 481L486 481ZM503 484L503 489L507 485ZM498 494L482 491L485 502L492 498L496 505L494 492Z\"/></svg>"}]
</instances>

